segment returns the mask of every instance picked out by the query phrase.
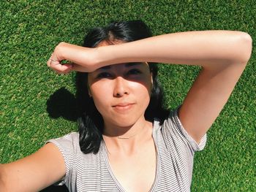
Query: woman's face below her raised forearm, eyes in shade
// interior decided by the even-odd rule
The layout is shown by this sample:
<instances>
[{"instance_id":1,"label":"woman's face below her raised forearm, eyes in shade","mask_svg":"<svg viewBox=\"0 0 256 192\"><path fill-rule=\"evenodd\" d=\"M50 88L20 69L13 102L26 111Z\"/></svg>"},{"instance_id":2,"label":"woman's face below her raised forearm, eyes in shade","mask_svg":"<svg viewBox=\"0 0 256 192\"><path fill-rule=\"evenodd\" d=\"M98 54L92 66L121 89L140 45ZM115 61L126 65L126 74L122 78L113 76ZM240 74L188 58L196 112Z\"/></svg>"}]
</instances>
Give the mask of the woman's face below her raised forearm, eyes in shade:
<instances>
[{"instance_id":1,"label":"woman's face below her raised forearm, eyes in shade","mask_svg":"<svg viewBox=\"0 0 256 192\"><path fill-rule=\"evenodd\" d=\"M132 126L144 120L152 77L147 63L105 66L88 75L89 93L105 126Z\"/></svg>"}]
</instances>

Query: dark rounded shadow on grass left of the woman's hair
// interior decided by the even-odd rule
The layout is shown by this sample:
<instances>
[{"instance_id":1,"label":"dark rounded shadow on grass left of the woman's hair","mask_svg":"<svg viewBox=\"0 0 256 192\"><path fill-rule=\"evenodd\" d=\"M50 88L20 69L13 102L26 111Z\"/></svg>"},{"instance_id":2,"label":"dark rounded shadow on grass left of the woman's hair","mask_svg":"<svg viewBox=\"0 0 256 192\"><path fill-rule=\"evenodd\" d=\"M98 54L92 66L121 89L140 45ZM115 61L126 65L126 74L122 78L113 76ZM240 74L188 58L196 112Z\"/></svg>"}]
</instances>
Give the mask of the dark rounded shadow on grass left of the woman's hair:
<instances>
[{"instance_id":1,"label":"dark rounded shadow on grass left of the woman's hair","mask_svg":"<svg viewBox=\"0 0 256 192\"><path fill-rule=\"evenodd\" d=\"M76 121L78 112L76 110L75 96L67 91L66 88L60 88L48 99L47 112L50 118L62 117L66 120Z\"/></svg>"}]
</instances>

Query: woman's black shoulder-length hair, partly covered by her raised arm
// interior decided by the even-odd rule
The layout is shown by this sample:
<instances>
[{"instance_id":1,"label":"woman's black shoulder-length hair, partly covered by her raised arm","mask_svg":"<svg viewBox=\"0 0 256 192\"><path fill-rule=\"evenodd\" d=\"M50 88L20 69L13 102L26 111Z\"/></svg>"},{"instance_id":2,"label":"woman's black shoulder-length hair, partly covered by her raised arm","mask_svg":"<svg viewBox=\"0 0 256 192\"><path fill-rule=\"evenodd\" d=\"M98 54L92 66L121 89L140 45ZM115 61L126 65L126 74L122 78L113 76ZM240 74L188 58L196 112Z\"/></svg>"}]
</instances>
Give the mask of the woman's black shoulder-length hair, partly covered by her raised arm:
<instances>
[{"instance_id":1,"label":"woman's black shoulder-length hair, partly covered by her raised arm","mask_svg":"<svg viewBox=\"0 0 256 192\"><path fill-rule=\"evenodd\" d=\"M141 20L113 22L105 27L94 28L86 35L83 47L97 47L99 42L105 41L114 44L116 41L132 42L151 37L151 31ZM153 77L151 98L145 112L146 120L154 121L158 118L163 122L168 110L163 107L162 88L157 80L157 64L149 63L149 69ZM88 92L88 73L77 72L77 101L78 101L78 126L79 145L83 153L98 153L102 142L103 118L94 105Z\"/></svg>"}]
</instances>

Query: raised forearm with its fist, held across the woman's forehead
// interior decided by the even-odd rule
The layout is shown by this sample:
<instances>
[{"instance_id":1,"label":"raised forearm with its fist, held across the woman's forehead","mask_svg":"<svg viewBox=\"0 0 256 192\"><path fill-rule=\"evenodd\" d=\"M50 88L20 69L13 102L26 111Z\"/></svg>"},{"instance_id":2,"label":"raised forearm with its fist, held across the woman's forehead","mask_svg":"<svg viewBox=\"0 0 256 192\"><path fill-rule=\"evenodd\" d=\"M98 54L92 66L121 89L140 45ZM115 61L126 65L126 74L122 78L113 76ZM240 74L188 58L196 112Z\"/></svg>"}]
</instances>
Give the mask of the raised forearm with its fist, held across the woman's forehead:
<instances>
[{"instance_id":1,"label":"raised forearm with its fist, held across the woman's forehead","mask_svg":"<svg viewBox=\"0 0 256 192\"><path fill-rule=\"evenodd\" d=\"M251 51L252 39L241 31L188 31L97 48L62 42L56 46L48 66L59 73L92 72L111 64L148 61L208 69L246 64ZM62 65L64 59L74 64Z\"/></svg>"}]
</instances>

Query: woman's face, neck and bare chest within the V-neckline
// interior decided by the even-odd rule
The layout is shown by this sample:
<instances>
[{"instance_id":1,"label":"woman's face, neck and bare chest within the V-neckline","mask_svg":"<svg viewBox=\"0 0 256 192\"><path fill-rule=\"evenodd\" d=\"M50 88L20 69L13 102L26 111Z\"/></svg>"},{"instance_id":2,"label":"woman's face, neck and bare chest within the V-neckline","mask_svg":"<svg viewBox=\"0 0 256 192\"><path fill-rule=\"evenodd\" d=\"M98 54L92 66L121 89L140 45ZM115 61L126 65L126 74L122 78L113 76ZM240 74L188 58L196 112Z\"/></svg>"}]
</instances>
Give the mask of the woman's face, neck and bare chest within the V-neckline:
<instances>
[{"instance_id":1,"label":"woman's face, neck and bare chest within the V-neckline","mask_svg":"<svg viewBox=\"0 0 256 192\"><path fill-rule=\"evenodd\" d=\"M126 191L149 191L156 172L156 151L152 123L144 118L152 85L148 64L105 66L89 73L88 80L90 95L104 119L103 138L115 177Z\"/></svg>"}]
</instances>

